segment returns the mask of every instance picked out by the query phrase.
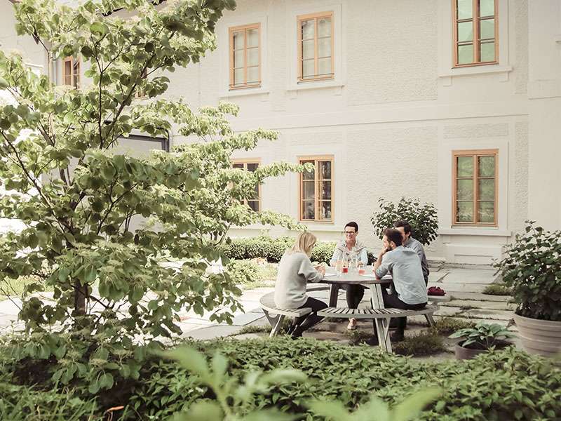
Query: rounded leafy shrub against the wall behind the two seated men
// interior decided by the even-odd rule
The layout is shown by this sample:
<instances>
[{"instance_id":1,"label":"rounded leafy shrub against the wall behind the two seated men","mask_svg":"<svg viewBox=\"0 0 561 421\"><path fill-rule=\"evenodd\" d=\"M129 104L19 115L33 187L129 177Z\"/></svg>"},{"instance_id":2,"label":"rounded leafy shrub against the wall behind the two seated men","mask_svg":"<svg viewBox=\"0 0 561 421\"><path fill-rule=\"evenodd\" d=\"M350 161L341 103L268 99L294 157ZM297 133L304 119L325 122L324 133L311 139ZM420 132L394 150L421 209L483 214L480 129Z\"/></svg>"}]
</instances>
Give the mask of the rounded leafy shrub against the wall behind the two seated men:
<instances>
[{"instance_id":1,"label":"rounded leafy shrub against the wall behind the two seated men","mask_svg":"<svg viewBox=\"0 0 561 421\"><path fill-rule=\"evenodd\" d=\"M418 199L402 197L398 203L378 199L380 210L374 212L370 221L374 234L381 239L384 229L393 227L396 220L405 220L411 225L411 236L427 245L438 236L438 216L433 203L421 203Z\"/></svg>"}]
</instances>

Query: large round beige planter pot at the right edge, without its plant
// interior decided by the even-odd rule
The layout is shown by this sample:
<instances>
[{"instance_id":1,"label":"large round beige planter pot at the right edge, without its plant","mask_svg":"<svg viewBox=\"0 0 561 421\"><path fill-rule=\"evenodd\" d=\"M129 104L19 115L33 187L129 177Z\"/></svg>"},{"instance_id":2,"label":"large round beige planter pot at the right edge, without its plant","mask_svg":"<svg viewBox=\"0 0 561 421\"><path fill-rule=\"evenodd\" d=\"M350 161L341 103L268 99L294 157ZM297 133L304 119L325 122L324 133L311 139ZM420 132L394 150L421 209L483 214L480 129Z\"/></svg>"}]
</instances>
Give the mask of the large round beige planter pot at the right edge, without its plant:
<instances>
[{"instance_id":1,"label":"large round beige planter pot at the right edge, without its plant","mask_svg":"<svg viewBox=\"0 0 561 421\"><path fill-rule=\"evenodd\" d=\"M529 354L553 356L561 352L561 321L530 319L514 314L522 347Z\"/></svg>"}]
</instances>

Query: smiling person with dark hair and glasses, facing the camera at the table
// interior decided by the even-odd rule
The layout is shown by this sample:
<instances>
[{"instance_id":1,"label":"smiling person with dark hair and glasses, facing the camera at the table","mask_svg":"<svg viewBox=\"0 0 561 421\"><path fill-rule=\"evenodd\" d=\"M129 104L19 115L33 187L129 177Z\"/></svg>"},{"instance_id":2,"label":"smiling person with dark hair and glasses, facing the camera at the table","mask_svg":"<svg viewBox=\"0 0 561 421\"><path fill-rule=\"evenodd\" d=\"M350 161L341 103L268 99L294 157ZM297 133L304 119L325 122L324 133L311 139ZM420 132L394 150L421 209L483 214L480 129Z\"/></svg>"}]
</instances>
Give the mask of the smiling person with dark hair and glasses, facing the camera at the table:
<instances>
[{"instance_id":1,"label":"smiling person with dark hair and glasses, facing the camera at the table","mask_svg":"<svg viewBox=\"0 0 561 421\"><path fill-rule=\"evenodd\" d=\"M344 260L345 256L350 260L350 258L356 258L357 264L359 266L366 266L368 264L368 255L366 252L366 246L360 243L356 239L358 235L358 224L356 222L349 222L345 225L345 239L339 241L335 250L333 250L333 255L329 264L335 266L337 260ZM354 256L353 256L354 254ZM350 309L358 308L360 301L364 297L364 287L362 285L346 285L343 286L346 290L346 304ZM356 329L356 319L349 320L349 326L347 329Z\"/></svg>"}]
</instances>

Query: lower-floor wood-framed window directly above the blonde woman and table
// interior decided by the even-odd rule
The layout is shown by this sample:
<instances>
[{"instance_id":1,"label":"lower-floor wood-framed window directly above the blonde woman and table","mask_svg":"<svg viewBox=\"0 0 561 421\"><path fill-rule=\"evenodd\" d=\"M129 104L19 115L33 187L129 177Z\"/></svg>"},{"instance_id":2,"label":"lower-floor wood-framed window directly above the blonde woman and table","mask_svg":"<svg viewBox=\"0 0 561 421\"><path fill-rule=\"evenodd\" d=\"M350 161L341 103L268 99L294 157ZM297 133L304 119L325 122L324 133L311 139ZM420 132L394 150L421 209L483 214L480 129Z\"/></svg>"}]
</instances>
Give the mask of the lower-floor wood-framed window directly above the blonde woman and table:
<instances>
[{"instance_id":1,"label":"lower-floor wood-framed window directly above the blonde woman and table","mask_svg":"<svg viewBox=\"0 0 561 421\"><path fill-rule=\"evenodd\" d=\"M333 220L333 156L304 156L299 163L312 163L313 171L300 173L299 214L302 221Z\"/></svg>"}]
</instances>

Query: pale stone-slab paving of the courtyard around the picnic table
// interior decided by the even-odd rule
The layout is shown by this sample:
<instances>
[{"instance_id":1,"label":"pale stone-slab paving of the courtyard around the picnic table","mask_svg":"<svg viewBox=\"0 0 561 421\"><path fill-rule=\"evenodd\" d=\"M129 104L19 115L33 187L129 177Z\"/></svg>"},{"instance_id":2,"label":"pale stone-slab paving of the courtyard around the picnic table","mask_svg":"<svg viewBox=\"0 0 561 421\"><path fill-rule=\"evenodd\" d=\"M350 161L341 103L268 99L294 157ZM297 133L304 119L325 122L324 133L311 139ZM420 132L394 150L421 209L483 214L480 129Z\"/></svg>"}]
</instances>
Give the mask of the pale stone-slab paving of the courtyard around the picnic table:
<instances>
[{"instance_id":1,"label":"pale stone-slab paving of the courtyard around the picnic table","mask_svg":"<svg viewBox=\"0 0 561 421\"><path fill-rule=\"evenodd\" d=\"M453 300L441 305L440 310L435 316L454 316L461 319L473 321L489 321L510 326L514 305L509 304L510 297L500 295L484 295L481 293L485 286L494 281L494 270L487 268L432 268L429 278L429 286L440 286L447 294L452 295ZM181 312L180 327L183 335L198 340L219 338L228 335L235 335L244 326L266 325L266 319L259 307L259 298L269 293L273 287L255 288L243 291L241 304L244 312L234 314L234 323L212 323L210 313L199 316L194 312ZM345 291L339 293L339 305L346 307ZM363 305L367 305L370 300L370 291L367 291ZM326 300L329 292L327 290L313 293L313 296ZM48 299L50 294L43 294L43 298ZM0 331L10 329L10 326L21 327L18 323L19 299L4 300L0 302ZM424 321L423 316L412 318L413 321ZM342 324L343 322L339 323ZM510 327L515 330L514 326ZM328 333L325 332L327 336Z\"/></svg>"}]
</instances>

